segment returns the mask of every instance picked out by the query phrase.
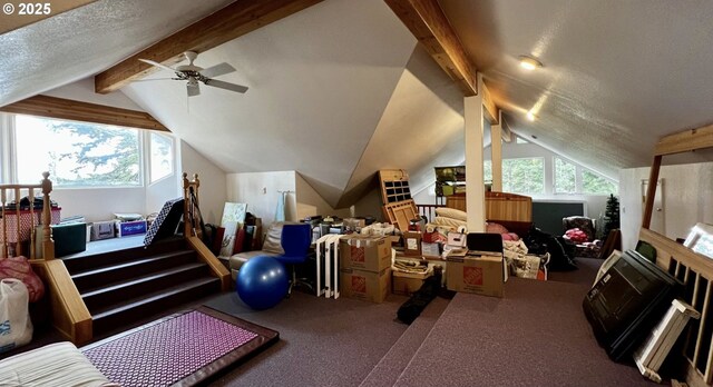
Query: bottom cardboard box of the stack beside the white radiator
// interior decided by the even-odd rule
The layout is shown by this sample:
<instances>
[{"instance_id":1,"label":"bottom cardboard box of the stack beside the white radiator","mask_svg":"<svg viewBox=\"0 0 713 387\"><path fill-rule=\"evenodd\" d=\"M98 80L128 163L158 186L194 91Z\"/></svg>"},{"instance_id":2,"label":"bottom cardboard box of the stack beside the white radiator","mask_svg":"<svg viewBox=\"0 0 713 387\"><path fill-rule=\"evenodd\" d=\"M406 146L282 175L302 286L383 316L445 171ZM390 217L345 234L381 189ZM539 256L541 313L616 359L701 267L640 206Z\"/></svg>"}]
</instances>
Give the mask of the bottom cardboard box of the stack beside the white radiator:
<instances>
[{"instance_id":1,"label":"bottom cardboard box of the stack beside the white radiator","mask_svg":"<svg viewBox=\"0 0 713 387\"><path fill-rule=\"evenodd\" d=\"M342 296L380 304L391 290L391 269L380 272L342 269L339 287Z\"/></svg>"}]
</instances>

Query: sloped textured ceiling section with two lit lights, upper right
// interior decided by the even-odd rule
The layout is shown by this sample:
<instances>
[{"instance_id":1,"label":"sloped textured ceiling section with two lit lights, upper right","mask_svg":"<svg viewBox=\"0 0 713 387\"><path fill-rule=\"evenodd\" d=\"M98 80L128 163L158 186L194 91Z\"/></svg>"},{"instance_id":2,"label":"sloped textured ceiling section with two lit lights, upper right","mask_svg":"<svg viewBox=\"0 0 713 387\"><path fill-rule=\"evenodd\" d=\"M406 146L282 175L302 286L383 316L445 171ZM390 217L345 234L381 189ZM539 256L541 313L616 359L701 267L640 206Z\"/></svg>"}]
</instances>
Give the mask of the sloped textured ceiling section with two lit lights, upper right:
<instances>
[{"instance_id":1,"label":"sloped textured ceiling section with two lit lights, upper right","mask_svg":"<svg viewBox=\"0 0 713 387\"><path fill-rule=\"evenodd\" d=\"M515 131L595 170L651 165L661 136L713 122L711 1L440 3Z\"/></svg>"}]
</instances>

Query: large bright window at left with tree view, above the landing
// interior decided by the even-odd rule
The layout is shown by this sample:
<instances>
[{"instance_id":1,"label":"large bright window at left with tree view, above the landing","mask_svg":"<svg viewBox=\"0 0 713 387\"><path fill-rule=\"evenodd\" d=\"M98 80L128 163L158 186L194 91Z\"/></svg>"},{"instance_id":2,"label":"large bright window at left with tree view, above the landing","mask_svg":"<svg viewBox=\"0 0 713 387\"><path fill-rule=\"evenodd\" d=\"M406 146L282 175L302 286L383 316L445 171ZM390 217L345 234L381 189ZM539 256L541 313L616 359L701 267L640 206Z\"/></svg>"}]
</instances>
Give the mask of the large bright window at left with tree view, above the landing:
<instances>
[{"instance_id":1,"label":"large bright window at left with tree view, above the landing","mask_svg":"<svg viewBox=\"0 0 713 387\"><path fill-rule=\"evenodd\" d=\"M17 115L18 181L49 171L57 187L140 186L138 129Z\"/></svg>"}]
</instances>

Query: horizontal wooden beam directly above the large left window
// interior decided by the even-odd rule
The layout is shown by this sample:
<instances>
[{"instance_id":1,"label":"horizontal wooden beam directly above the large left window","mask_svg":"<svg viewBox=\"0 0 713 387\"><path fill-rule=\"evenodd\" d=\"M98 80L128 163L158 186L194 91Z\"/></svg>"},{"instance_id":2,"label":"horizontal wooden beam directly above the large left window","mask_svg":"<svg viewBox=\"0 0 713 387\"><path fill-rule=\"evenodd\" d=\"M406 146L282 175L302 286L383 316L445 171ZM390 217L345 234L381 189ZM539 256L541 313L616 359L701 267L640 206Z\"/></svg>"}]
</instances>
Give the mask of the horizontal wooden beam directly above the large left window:
<instances>
[{"instance_id":1,"label":"horizontal wooden beam directly above the large left window","mask_svg":"<svg viewBox=\"0 0 713 387\"><path fill-rule=\"evenodd\" d=\"M144 111L120 109L49 96L30 97L18 102L0 107L0 111L82 122L170 131L163 123L152 117L152 115Z\"/></svg>"}]
</instances>

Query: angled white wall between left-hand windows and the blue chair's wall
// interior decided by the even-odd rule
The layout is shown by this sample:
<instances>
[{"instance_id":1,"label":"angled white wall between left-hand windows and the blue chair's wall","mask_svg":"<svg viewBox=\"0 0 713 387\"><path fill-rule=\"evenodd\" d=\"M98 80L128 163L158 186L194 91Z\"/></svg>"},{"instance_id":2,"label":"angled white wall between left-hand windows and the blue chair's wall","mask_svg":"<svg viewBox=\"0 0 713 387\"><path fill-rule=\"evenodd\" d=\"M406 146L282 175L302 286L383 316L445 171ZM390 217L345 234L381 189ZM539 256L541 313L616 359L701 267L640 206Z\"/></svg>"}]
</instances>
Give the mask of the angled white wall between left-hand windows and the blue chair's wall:
<instances>
[{"instance_id":1,"label":"angled white wall between left-hand windows and the blue chair's wall","mask_svg":"<svg viewBox=\"0 0 713 387\"><path fill-rule=\"evenodd\" d=\"M198 173L201 187L198 188L198 200L201 201L201 214L206 224L219 225L223 216L223 206L227 201L227 186L225 171L216 167L211 160L198 153L187 142L180 140L179 165L176 179L178 191L183 192L183 173L188 173L188 179L193 179L194 173ZM183 195L179 194L178 197ZM163 204L163 202L162 202ZM159 207L160 209L160 207ZM250 210L250 208L248 208Z\"/></svg>"}]
</instances>

